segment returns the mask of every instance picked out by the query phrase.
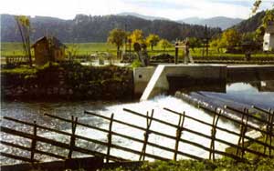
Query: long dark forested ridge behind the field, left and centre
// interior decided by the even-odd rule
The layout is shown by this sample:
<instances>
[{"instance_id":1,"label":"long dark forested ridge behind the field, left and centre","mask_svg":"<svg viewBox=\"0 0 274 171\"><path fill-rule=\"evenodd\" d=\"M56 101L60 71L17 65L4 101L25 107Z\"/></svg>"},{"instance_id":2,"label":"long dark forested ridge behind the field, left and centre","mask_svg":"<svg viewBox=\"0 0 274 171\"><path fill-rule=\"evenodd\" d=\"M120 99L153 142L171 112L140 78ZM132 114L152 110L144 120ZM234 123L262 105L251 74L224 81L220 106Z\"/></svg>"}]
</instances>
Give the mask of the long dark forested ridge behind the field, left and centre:
<instances>
[{"instance_id":1,"label":"long dark forested ridge behind the field, left and centre","mask_svg":"<svg viewBox=\"0 0 274 171\"><path fill-rule=\"evenodd\" d=\"M167 20L145 20L127 15L76 15L73 20L36 16L30 18L32 41L43 35L57 36L63 42L106 42L113 28L127 31L141 29L144 35L157 34L168 40L184 37L203 37L205 28L201 25L179 24ZM210 28L210 35L221 32L220 28ZM18 42L21 37L16 27L14 15L1 15L1 41Z\"/></svg>"}]
</instances>

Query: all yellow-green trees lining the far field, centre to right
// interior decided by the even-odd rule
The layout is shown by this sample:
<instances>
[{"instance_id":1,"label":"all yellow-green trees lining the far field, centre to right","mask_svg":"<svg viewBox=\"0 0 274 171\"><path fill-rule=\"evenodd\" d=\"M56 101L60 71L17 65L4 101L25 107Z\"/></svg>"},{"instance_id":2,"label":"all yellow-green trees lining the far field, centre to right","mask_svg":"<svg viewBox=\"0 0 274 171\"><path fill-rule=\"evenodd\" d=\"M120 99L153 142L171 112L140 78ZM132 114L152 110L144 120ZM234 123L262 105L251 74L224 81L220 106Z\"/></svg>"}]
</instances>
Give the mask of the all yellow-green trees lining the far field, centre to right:
<instances>
[{"instance_id":1,"label":"all yellow-green trees lining the far field, centre to right","mask_svg":"<svg viewBox=\"0 0 274 171\"><path fill-rule=\"evenodd\" d=\"M221 49L226 48L228 51L236 51L236 48L241 47L243 44L251 44L258 45L258 42L261 40L260 36L258 36L255 32L240 34L236 29L228 29L223 34L216 36L211 42L210 46L217 49L218 53L220 53ZM195 47L203 46L202 39L196 37L189 37L189 46L195 52ZM144 37L142 34L142 30L136 29L132 33L125 32L121 29L113 29L110 32L108 42L117 46L117 52L120 51L122 45L127 44L132 46L134 43L145 44L151 47L153 51L153 47L156 45L160 45L163 50L167 47L171 47L172 44L166 39L161 39L159 35L148 35Z\"/></svg>"}]
</instances>

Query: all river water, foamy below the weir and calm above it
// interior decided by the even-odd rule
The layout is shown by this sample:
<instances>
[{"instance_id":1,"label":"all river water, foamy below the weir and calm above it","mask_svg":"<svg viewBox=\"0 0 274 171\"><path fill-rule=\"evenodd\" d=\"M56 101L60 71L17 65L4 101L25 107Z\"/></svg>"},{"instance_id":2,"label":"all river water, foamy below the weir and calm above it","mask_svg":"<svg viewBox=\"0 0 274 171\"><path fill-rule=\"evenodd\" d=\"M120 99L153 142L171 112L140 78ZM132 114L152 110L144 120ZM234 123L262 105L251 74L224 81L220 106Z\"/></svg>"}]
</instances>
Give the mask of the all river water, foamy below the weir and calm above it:
<instances>
[{"instance_id":1,"label":"all river water, foamy below the weir and calm above it","mask_svg":"<svg viewBox=\"0 0 274 171\"><path fill-rule=\"evenodd\" d=\"M223 105L222 103L231 103L231 105L243 104L243 105L254 105L257 103L258 106L262 107L271 107L274 104L274 93L273 93L273 82L259 82L258 83L233 83L229 85L225 85L225 90L223 92L213 92L213 91L195 91L188 92L189 95L200 98L205 101L212 101L216 105ZM216 100L217 99L217 100ZM90 116L84 114L84 111L91 111L102 116L111 116L114 113L114 118L121 120L123 122L127 122L133 124L135 126L146 127L146 119L140 116L134 116L131 113L123 111L123 108L128 108L133 111L142 113L142 115L146 115L147 111L151 113L152 109L154 109L153 117L161 119L163 121L172 123L174 125L178 124L179 116L176 116L170 112L163 110L163 107L167 107L173 109L177 112L185 111L187 116L193 116L197 119L203 120L207 123L212 123L213 116L205 113L202 110L195 108L194 106L186 104L183 100L179 98L175 98L174 96L156 96L155 98L143 101L143 102L131 102L131 103L109 103L109 102L90 102L90 101L82 101L82 102L58 102L58 103L37 103L37 102L2 102L1 104L1 116L11 116L20 120L33 122L37 121L38 125L47 126L51 128L56 128L58 130L63 130L68 133L71 132L71 126L68 123L63 121L59 121L57 119L52 119L47 116L44 116L44 113L48 113L54 116L60 116L64 118L70 118L70 116L78 116L79 122L89 124L91 126L99 126L101 128L108 129L109 121L103 120L96 116ZM8 122L5 119L1 119L1 125L14 128L19 131L26 131L28 133L32 132L32 127L23 126L20 124L16 124L13 122ZM219 120L218 126L229 129L231 131L239 132L237 126L233 125L230 122L225 120ZM185 118L184 127L195 130L197 132L203 133L205 135L211 135L211 127L199 124L191 119ZM174 127L165 126L163 124L159 124L157 122L152 122L151 129L157 132L161 132L166 135L175 136L176 130ZM123 135L133 136L139 139L143 139L143 131L138 129L134 129L129 126L123 126L117 123L114 123L112 130L117 133L121 133ZM107 142L107 135L102 134L96 130L92 130L90 128L85 128L82 126L77 126L76 134L79 136L86 136L94 139L99 139L101 141ZM60 136L58 134L52 134L44 130L38 129L37 135L49 137L51 139L58 140L60 142L68 143L68 136ZM216 137L219 139L225 139L231 143L237 143L237 136L232 136L223 131L217 131ZM193 141L203 146L209 146L210 140L205 139L201 136L195 136L191 133L183 131L182 138ZM7 142L13 142L22 146L30 146L30 141L27 141L24 138L20 138L17 136L9 136L4 133L1 133L1 139ZM135 149L137 151L141 151L142 144L136 143L131 140L121 138L119 136L113 136L112 142L119 146L125 146L128 148ZM163 136L156 136L151 134L149 136L149 142L158 144L161 146L166 146L174 149L175 141L165 138ZM96 146L92 143L88 143L86 141L77 140L77 146L83 146L85 148L89 148L92 150L97 150L102 153L106 153L106 148L103 146ZM37 144L38 149L58 153L62 156L68 155L68 150L61 150L57 147L44 145L42 143ZM216 149L220 151L224 151L227 146L223 144L216 143ZM203 149L190 146L184 143L180 143L179 150L200 157L208 157L208 152L205 152ZM1 146L1 152L16 154L20 156L29 157L30 154L24 152L22 150L11 148L7 146ZM166 152L155 148L153 146L147 147L147 153L154 154L157 156L163 156L166 158L173 158L174 154L170 152ZM112 156L121 156L127 159L138 160L139 156L132 155L131 153L126 153L121 150L115 150L111 148ZM73 153L73 156L83 156L79 153ZM47 156L36 156L37 159L47 161L52 160L53 158ZM178 158L184 158L184 156L178 156ZM150 159L150 158L146 158ZM18 163L18 161L14 161L12 159L8 159L5 157L0 158L1 164L14 164Z\"/></svg>"}]
</instances>

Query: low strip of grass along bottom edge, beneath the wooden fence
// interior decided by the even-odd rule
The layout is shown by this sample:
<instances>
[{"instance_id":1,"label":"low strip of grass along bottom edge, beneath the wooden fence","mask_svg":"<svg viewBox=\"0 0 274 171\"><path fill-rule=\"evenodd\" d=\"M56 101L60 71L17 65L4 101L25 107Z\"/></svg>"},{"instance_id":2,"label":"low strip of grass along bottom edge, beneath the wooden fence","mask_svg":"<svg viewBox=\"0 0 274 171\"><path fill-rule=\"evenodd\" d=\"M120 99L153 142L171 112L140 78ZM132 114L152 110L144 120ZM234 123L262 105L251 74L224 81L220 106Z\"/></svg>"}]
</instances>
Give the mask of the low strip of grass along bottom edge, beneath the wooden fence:
<instances>
[{"instance_id":1,"label":"low strip of grass along bottom edge, beneath the wooden fence","mask_svg":"<svg viewBox=\"0 0 274 171\"><path fill-rule=\"evenodd\" d=\"M223 158L215 162L205 160L203 162L193 160L180 160L177 162L156 161L145 163L141 167L129 168L118 167L115 169L104 169L104 171L273 171L274 159L264 158L253 164L235 162L231 159Z\"/></svg>"}]
</instances>

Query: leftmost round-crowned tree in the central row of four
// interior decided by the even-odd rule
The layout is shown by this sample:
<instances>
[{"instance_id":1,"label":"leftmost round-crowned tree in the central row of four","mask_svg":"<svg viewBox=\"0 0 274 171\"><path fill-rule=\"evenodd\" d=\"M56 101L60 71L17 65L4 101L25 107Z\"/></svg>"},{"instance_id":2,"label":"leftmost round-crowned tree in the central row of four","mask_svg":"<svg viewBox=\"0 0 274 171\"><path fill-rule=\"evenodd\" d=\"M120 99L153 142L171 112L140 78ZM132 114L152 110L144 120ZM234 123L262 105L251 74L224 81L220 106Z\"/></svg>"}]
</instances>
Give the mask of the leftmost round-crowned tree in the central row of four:
<instances>
[{"instance_id":1,"label":"leftmost round-crowned tree in the central row of four","mask_svg":"<svg viewBox=\"0 0 274 171\"><path fill-rule=\"evenodd\" d=\"M127 37L127 33L121 29L113 29L110 32L108 37L108 42L116 45L117 47L117 57L120 57L120 47L123 45L125 38Z\"/></svg>"}]
</instances>

